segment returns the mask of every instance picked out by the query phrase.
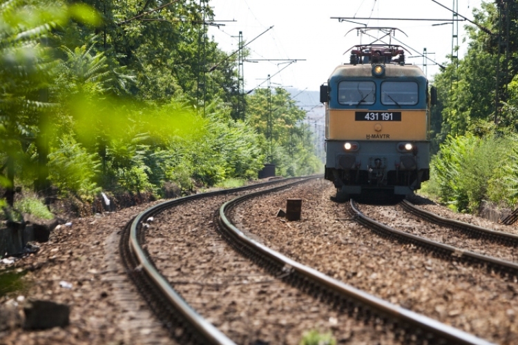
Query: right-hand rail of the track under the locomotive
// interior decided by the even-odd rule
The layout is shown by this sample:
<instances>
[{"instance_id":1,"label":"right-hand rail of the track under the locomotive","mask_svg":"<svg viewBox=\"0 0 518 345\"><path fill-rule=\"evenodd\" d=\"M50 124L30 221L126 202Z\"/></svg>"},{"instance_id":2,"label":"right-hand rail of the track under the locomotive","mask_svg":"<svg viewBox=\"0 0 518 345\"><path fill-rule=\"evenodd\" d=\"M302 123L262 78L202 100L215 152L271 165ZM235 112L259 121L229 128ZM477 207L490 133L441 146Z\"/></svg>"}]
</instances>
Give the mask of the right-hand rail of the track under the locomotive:
<instances>
[{"instance_id":1,"label":"right-hand rail of the track under the locomotive","mask_svg":"<svg viewBox=\"0 0 518 345\"><path fill-rule=\"evenodd\" d=\"M504 233L503 231L491 230L488 228L482 228L481 226L468 224L463 221L441 217L440 215L436 215L435 213L423 210L422 208L415 206L407 200L401 201L400 205L403 209L407 210L408 212L428 221L431 221L434 224L455 228L463 231L464 233L468 233L469 235L477 235L478 237L498 239L499 241L506 244L513 244L515 246L518 245L518 235Z\"/></svg>"}]
</instances>

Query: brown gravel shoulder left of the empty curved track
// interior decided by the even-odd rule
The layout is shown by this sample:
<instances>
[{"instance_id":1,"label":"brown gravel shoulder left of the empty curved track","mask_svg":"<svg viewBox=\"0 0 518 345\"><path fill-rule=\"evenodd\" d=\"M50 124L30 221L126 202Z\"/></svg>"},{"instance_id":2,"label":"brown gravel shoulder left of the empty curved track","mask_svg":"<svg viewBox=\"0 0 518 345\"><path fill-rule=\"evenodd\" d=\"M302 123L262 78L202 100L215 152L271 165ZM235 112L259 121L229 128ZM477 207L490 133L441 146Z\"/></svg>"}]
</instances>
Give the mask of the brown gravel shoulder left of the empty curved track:
<instances>
[{"instance_id":1,"label":"brown gravel shoulder left of the empty curved track","mask_svg":"<svg viewBox=\"0 0 518 345\"><path fill-rule=\"evenodd\" d=\"M27 270L22 293L0 299L3 311L22 315L24 299L70 306L70 325L23 331L19 324L3 329L0 344L173 344L154 321L119 263L119 231L128 219L152 204L88 218L54 230L39 252L18 259L10 268ZM62 282L71 284L63 287Z\"/></svg>"}]
</instances>

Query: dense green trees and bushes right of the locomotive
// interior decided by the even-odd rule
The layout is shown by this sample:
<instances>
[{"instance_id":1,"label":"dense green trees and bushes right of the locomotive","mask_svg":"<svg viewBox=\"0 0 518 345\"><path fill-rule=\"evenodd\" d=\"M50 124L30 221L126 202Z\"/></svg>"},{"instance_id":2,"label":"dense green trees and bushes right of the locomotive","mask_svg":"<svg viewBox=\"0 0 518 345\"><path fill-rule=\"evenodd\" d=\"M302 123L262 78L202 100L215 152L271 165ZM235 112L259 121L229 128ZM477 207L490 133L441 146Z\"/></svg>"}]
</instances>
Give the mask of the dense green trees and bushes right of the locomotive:
<instances>
[{"instance_id":1,"label":"dense green trees and bushes right of the locomotive","mask_svg":"<svg viewBox=\"0 0 518 345\"><path fill-rule=\"evenodd\" d=\"M432 180L428 191L462 212L482 201L518 201L518 3L482 3L466 57L434 78Z\"/></svg>"}]
</instances>

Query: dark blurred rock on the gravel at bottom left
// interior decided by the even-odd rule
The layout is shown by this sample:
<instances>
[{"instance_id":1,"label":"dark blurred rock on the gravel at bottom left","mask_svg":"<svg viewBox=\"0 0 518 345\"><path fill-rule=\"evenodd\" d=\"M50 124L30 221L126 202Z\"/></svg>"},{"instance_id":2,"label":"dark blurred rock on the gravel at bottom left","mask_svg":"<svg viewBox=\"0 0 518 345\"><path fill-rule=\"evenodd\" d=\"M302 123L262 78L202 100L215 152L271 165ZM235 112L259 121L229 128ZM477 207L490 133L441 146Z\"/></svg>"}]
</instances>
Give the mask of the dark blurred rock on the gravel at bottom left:
<instances>
[{"instance_id":1,"label":"dark blurred rock on the gravel at bottom left","mask_svg":"<svg viewBox=\"0 0 518 345\"><path fill-rule=\"evenodd\" d=\"M70 307L50 301L30 301L23 307L26 315L23 328L46 329L69 324Z\"/></svg>"}]
</instances>

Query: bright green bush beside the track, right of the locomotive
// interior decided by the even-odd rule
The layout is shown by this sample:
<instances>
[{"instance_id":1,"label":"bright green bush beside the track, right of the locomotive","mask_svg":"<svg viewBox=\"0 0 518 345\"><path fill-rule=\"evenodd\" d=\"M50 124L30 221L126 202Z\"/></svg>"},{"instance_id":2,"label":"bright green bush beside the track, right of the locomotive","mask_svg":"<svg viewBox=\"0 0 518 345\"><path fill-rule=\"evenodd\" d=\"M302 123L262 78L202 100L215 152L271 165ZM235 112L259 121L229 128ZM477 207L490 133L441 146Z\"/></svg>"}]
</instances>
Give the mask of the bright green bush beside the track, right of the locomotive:
<instances>
[{"instance_id":1,"label":"bright green bush beside the track, right of the locomotive","mask_svg":"<svg viewBox=\"0 0 518 345\"><path fill-rule=\"evenodd\" d=\"M509 136L448 137L432 158L425 192L459 212L474 213L483 200L512 203L518 195L517 149Z\"/></svg>"}]
</instances>

